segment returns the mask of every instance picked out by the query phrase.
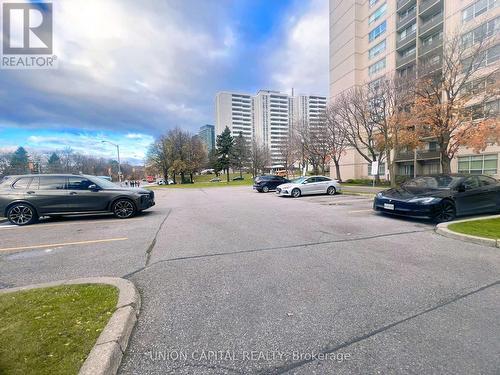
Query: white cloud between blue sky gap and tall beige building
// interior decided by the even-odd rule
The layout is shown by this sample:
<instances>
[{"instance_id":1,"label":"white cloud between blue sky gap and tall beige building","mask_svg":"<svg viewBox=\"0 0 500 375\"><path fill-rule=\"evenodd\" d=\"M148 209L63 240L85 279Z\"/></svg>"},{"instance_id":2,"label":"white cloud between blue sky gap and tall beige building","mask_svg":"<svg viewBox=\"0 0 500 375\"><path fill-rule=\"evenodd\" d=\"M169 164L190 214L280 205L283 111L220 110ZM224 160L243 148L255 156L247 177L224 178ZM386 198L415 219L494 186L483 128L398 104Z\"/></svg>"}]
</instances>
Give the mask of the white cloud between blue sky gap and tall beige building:
<instances>
[{"instance_id":1,"label":"white cloud between blue sky gap and tall beige building","mask_svg":"<svg viewBox=\"0 0 500 375\"><path fill-rule=\"evenodd\" d=\"M289 12L282 39L268 61L271 82L279 90L328 93L329 10L327 0L299 2Z\"/></svg>"}]
</instances>

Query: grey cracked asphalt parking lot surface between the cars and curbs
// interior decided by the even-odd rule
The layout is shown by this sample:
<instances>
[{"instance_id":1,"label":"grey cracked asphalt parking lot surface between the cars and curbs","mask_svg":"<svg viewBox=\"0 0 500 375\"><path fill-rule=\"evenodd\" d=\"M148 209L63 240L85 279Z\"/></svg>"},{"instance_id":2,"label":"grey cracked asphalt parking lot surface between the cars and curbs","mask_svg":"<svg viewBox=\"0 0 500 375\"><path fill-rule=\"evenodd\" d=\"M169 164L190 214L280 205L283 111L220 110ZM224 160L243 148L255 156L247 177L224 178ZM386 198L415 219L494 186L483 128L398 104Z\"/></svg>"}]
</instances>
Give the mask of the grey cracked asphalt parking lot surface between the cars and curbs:
<instances>
[{"instance_id":1,"label":"grey cracked asphalt parking lot surface between the cars and curbs","mask_svg":"<svg viewBox=\"0 0 500 375\"><path fill-rule=\"evenodd\" d=\"M143 307L122 374L498 373L498 250L365 196L156 197L129 220L0 225L0 287L133 281Z\"/></svg>"}]
</instances>

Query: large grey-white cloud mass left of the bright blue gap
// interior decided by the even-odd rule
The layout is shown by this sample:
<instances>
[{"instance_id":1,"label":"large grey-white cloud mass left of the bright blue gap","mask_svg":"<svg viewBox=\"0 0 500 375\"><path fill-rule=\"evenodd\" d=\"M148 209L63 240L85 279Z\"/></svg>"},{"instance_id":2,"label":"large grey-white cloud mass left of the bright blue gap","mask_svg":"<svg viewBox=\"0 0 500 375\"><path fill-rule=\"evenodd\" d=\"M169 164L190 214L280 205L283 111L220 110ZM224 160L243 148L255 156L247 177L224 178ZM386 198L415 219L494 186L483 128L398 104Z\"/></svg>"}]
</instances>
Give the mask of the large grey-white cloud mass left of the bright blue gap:
<instances>
[{"instance_id":1,"label":"large grey-white cloud mass left of the bright blue gap","mask_svg":"<svg viewBox=\"0 0 500 375\"><path fill-rule=\"evenodd\" d=\"M217 78L238 47L225 5L54 1L59 68L2 72L0 124L157 134L212 122Z\"/></svg>"}]
</instances>

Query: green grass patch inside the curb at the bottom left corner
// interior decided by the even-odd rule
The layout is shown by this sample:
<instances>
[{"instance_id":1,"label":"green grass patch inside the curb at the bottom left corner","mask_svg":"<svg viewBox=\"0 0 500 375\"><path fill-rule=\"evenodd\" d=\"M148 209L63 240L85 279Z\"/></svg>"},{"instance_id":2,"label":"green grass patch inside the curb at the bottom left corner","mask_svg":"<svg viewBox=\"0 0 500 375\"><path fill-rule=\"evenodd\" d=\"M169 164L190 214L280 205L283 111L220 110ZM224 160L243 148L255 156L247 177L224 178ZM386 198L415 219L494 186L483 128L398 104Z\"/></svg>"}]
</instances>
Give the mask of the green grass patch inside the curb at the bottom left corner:
<instances>
[{"instance_id":1,"label":"green grass patch inside the curb at the bottom left corner","mask_svg":"<svg viewBox=\"0 0 500 375\"><path fill-rule=\"evenodd\" d=\"M0 294L0 374L77 374L117 300L92 284Z\"/></svg>"}]
</instances>

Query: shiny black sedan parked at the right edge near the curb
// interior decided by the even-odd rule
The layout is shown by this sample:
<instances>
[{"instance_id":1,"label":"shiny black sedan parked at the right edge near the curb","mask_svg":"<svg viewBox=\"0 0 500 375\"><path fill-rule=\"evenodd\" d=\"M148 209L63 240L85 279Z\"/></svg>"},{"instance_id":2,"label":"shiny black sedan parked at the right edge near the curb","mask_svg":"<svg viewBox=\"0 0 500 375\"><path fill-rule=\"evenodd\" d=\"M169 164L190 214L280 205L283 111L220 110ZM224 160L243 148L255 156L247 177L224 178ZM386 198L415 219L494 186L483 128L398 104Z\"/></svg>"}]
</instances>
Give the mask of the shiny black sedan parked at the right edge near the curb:
<instances>
[{"instance_id":1,"label":"shiny black sedan parked at the right edge near the curb","mask_svg":"<svg viewBox=\"0 0 500 375\"><path fill-rule=\"evenodd\" d=\"M483 175L417 177L399 188L378 193L373 209L437 222L463 215L499 212L500 182Z\"/></svg>"}]
</instances>

